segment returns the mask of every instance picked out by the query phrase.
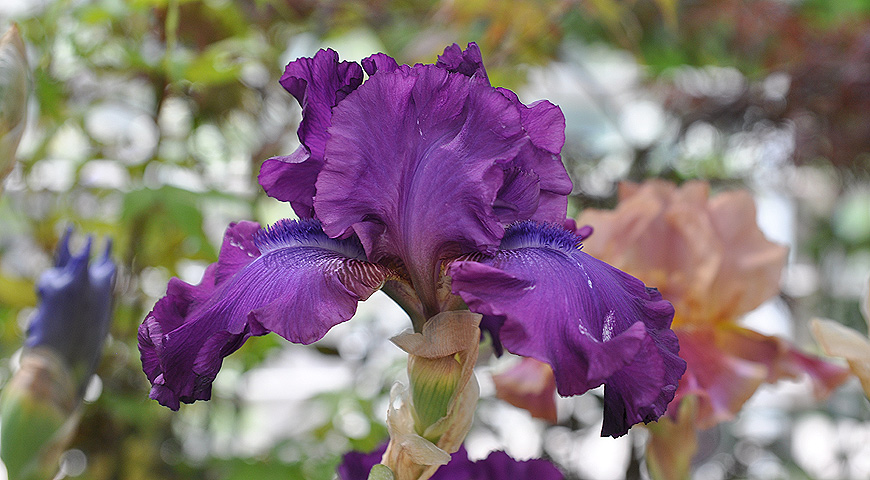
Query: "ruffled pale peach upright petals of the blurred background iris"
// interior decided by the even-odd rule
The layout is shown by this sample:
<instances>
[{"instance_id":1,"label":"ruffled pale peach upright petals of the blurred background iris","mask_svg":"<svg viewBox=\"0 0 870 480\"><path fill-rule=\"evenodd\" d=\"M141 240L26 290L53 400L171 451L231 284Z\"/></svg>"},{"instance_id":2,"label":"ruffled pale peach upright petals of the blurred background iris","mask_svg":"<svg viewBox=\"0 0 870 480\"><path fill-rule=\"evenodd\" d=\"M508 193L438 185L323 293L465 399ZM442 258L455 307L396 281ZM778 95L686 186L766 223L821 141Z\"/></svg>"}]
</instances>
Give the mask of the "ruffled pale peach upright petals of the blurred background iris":
<instances>
[{"instance_id":1,"label":"ruffled pale peach upright petals of the blurred background iris","mask_svg":"<svg viewBox=\"0 0 870 480\"><path fill-rule=\"evenodd\" d=\"M662 292L674 326L731 322L778 292L787 248L768 241L745 191L709 198L706 182L620 185L616 210L585 210L584 249Z\"/></svg>"}]
</instances>

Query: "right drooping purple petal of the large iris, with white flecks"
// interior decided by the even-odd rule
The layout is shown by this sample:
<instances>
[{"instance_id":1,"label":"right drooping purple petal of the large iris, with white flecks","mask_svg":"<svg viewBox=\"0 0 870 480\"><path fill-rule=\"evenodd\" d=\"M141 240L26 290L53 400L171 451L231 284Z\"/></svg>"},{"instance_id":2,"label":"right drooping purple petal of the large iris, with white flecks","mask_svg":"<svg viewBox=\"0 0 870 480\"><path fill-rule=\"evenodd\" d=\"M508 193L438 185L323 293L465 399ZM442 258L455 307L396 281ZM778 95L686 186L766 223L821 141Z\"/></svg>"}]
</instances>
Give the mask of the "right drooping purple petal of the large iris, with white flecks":
<instances>
[{"instance_id":1,"label":"right drooping purple petal of the large iris, with white flecks","mask_svg":"<svg viewBox=\"0 0 870 480\"><path fill-rule=\"evenodd\" d=\"M655 420L673 399L686 368L669 328L673 307L582 252L561 226L513 225L501 250L456 261L448 274L453 293L500 325L507 350L553 367L561 395L606 385L603 435Z\"/></svg>"}]
</instances>

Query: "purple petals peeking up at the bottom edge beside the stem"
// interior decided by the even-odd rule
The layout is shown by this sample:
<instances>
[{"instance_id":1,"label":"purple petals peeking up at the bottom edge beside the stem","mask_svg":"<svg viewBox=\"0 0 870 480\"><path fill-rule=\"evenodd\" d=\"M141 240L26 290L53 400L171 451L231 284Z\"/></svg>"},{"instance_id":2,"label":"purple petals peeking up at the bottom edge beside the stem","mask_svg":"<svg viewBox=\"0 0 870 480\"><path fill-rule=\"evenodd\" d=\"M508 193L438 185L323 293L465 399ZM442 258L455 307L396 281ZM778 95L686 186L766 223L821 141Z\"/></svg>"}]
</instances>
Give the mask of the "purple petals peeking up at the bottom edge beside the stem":
<instances>
[{"instance_id":1,"label":"purple petals peeking up at the bottom edge beside the stem","mask_svg":"<svg viewBox=\"0 0 870 480\"><path fill-rule=\"evenodd\" d=\"M366 480L372 467L381 461L387 448L381 445L371 453L348 452L338 466L338 480ZM472 462L464 447L450 456L450 463L435 472L431 480L562 480L564 475L552 463L542 459L514 460L505 452L492 452L483 460Z\"/></svg>"}]
</instances>

